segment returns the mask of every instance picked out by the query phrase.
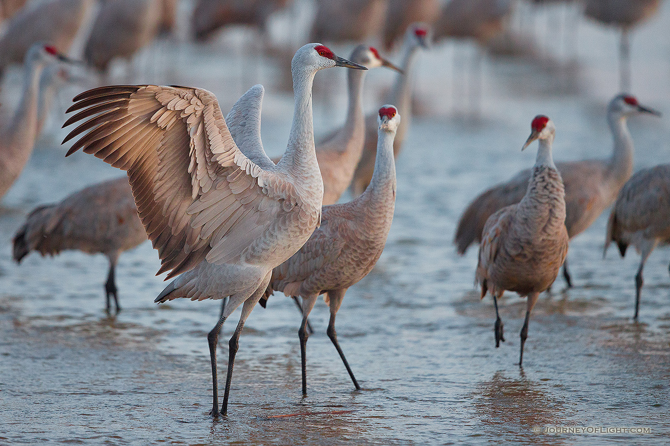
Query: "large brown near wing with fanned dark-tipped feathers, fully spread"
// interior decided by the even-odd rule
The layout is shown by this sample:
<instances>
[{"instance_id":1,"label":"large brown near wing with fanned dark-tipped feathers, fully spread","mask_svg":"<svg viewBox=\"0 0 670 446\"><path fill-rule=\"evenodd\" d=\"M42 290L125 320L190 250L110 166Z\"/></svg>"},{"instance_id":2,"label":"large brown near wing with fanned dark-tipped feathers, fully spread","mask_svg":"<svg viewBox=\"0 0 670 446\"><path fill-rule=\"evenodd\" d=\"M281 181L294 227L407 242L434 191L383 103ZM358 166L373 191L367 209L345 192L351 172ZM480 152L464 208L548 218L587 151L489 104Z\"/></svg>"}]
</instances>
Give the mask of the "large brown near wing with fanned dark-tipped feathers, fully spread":
<instances>
[{"instance_id":1,"label":"large brown near wing with fanned dark-tipped feathers, fully spread","mask_svg":"<svg viewBox=\"0 0 670 446\"><path fill-rule=\"evenodd\" d=\"M83 148L128 171L159 273L239 258L299 203L291 183L239 150L206 90L108 86L74 101L68 112L84 110L64 126L88 119L66 136L84 134L68 155Z\"/></svg>"}]
</instances>

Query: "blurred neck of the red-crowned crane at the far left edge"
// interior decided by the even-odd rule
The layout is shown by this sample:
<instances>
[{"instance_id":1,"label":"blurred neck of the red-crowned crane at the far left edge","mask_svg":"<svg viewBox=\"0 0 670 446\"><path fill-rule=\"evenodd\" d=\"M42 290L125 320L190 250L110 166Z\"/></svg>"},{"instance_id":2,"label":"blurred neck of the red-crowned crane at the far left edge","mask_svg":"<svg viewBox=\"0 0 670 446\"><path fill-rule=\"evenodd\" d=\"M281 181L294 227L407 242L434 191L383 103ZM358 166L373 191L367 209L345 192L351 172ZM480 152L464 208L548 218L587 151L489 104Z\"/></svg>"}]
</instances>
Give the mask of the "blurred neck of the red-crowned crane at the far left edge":
<instances>
[{"instance_id":1,"label":"blurred neck of the red-crowned crane at the far left edge","mask_svg":"<svg viewBox=\"0 0 670 446\"><path fill-rule=\"evenodd\" d=\"M38 98L40 93L40 76L44 65L35 62L27 65L27 73L23 79L23 92L19 108L17 108L9 127L2 135L0 144L6 144L9 151L19 160L27 160L35 145L38 132ZM9 143L9 144L7 144ZM25 162L25 161L24 161ZM23 164L21 164L23 167Z\"/></svg>"}]
</instances>

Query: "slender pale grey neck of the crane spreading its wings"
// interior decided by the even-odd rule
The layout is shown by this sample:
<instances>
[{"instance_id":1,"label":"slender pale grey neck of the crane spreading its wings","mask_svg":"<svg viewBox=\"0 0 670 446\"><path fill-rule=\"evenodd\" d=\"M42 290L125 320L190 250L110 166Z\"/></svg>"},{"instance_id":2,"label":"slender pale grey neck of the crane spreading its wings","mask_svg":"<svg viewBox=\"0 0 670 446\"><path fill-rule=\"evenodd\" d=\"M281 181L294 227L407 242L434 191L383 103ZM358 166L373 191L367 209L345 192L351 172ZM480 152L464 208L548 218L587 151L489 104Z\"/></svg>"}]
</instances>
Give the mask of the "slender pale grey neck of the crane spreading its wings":
<instances>
[{"instance_id":1,"label":"slender pale grey neck of the crane spreading its wings","mask_svg":"<svg viewBox=\"0 0 670 446\"><path fill-rule=\"evenodd\" d=\"M293 68L293 124L289 134L286 152L279 165L289 170L297 181L316 180L322 184L319 164L314 150L314 123L312 121L312 83L313 71L304 68Z\"/></svg>"}]
</instances>

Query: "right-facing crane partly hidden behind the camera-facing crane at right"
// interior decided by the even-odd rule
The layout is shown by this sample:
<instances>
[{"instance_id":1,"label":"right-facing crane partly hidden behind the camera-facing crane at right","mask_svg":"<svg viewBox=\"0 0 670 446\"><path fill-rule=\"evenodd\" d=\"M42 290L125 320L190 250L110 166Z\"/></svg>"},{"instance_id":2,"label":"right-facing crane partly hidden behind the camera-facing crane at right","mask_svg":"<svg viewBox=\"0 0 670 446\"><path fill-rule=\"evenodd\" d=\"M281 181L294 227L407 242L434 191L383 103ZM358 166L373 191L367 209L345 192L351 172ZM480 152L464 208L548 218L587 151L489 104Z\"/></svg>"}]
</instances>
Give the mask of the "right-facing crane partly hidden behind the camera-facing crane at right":
<instances>
[{"instance_id":1,"label":"right-facing crane partly hidden behind the camera-facing crane at right","mask_svg":"<svg viewBox=\"0 0 670 446\"><path fill-rule=\"evenodd\" d=\"M633 142L626 120L641 113L659 112L641 106L636 98L625 94L615 96L607 108L607 120L614 136L614 150L608 159L559 162L558 170L565 184L567 217L565 226L572 239L586 230L607 209L632 174ZM531 171L519 172L507 183L484 191L470 203L458 221L454 243L460 255L479 242L486 219L498 209L519 203L525 194ZM567 286L572 280L563 265Z\"/></svg>"}]
</instances>

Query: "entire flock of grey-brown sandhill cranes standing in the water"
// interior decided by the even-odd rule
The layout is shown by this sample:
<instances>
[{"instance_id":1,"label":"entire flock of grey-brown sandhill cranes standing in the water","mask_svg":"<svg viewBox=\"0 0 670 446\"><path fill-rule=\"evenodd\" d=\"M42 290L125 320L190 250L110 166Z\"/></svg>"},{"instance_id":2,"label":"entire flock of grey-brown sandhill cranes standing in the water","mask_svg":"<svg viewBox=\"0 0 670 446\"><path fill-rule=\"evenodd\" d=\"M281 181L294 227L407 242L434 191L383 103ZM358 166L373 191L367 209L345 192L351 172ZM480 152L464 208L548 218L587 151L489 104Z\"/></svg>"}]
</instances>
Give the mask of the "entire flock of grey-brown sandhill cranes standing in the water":
<instances>
[{"instance_id":1,"label":"entire flock of grey-brown sandhill cranes standing in the water","mask_svg":"<svg viewBox=\"0 0 670 446\"><path fill-rule=\"evenodd\" d=\"M341 43L377 37L389 51L401 41L401 62L389 62L367 44L356 45L348 59L322 43L299 47L291 61L293 120L285 152L277 158L267 156L261 141L261 85L251 86L226 115L214 94L202 88L108 85L113 60L129 60L174 31L180 16L176 0L107 0L97 7L93 0L23 3L3 2L0 9L0 76L13 64L23 64L25 73L19 105L0 128L0 197L29 160L57 85L68 82L68 73L78 69L99 86L78 94L68 109L63 127L69 133L63 142L71 145L66 156L82 150L127 176L28 213L13 237L13 259L20 262L31 251L103 253L109 259L106 309L118 313L119 256L151 240L161 261L158 273L167 272L171 280L155 302L222 300L220 318L207 336L212 417L228 413L245 321L256 304L265 307L275 292L293 298L302 313L298 338L303 395L312 332L308 317L321 295L330 308L326 333L360 389L338 342L336 314L348 288L375 267L391 230L395 161L411 126L416 56L446 38L472 38L488 45L505 32L511 3L317 1L310 40ZM628 33L653 15L660 1L585 3L588 17L622 29L620 72L626 91ZM190 17L192 35L204 41L218 29L241 23L256 27L267 40L269 17L289 5L287 0L198 0ZM90 29L82 36L80 58L69 58L64 54L86 21ZM347 70L344 124L315 142L314 78L335 67ZM387 104L366 116L364 82L367 70L374 68L395 71L395 82ZM533 118L523 149L538 141L534 166L474 197L458 223L457 252L463 255L470 245L479 245L474 274L482 298L490 292L494 301L496 347L505 341L498 300L505 291L527 298L519 366L539 294L551 287L561 267L567 286L574 286L566 263L569 241L606 209L612 208L605 250L614 241L622 256L628 245L641 253L635 320L645 261L655 247L670 243L670 164L633 174L633 139L627 126L631 116L660 113L627 92L616 94L606 113L612 155L575 162L553 161L555 124L544 115ZM352 199L343 203L347 191ZM239 306L219 405L218 338Z\"/></svg>"}]
</instances>

